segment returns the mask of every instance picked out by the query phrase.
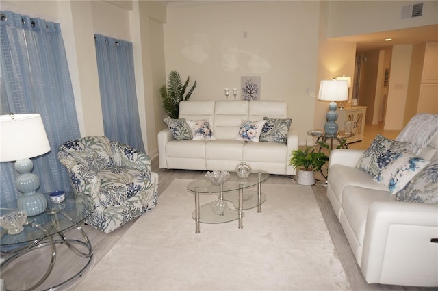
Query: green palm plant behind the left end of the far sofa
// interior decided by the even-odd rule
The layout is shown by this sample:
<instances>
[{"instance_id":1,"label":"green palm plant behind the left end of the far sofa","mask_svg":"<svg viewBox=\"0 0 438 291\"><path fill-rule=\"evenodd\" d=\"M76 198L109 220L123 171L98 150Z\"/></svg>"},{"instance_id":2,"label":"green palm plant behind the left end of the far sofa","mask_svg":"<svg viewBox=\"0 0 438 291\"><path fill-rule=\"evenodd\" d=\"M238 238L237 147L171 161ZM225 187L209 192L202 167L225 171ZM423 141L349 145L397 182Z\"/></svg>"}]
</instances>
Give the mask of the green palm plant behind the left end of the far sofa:
<instances>
[{"instance_id":1,"label":"green palm plant behind the left end of the far sofa","mask_svg":"<svg viewBox=\"0 0 438 291\"><path fill-rule=\"evenodd\" d=\"M169 72L167 86L163 85L162 88L159 88L159 94L162 96L164 111L166 112L167 116L172 119L178 118L179 102L183 100L189 100L194 88L196 88L196 81L194 81L193 86L190 88L187 94L185 94L185 89L188 87L189 81L190 77L188 77L183 84L181 81L181 75L179 75L178 71L172 70Z\"/></svg>"}]
</instances>

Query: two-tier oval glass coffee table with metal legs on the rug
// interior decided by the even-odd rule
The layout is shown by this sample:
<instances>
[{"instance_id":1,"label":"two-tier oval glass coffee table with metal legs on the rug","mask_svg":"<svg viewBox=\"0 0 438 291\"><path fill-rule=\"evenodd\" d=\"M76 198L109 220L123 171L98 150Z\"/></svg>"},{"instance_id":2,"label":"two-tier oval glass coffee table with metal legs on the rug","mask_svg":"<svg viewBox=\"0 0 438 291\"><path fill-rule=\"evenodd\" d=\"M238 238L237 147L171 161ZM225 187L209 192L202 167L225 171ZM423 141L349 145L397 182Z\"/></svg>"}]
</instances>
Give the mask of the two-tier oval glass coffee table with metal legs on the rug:
<instances>
[{"instance_id":1,"label":"two-tier oval glass coffee table with metal legs on the rug","mask_svg":"<svg viewBox=\"0 0 438 291\"><path fill-rule=\"evenodd\" d=\"M268 172L252 170L245 179L230 173L222 187L211 184L205 178L192 181L187 189L194 193L195 210L192 218L195 220L195 232L200 232L199 223L229 223L233 220L239 220L239 228L242 229L243 210L257 207L257 212L261 212L261 204L266 201L266 194L261 192L261 184L268 178ZM250 190L255 186L257 190ZM199 194L215 195L218 200L200 206ZM230 204L233 206L229 207Z\"/></svg>"}]
</instances>

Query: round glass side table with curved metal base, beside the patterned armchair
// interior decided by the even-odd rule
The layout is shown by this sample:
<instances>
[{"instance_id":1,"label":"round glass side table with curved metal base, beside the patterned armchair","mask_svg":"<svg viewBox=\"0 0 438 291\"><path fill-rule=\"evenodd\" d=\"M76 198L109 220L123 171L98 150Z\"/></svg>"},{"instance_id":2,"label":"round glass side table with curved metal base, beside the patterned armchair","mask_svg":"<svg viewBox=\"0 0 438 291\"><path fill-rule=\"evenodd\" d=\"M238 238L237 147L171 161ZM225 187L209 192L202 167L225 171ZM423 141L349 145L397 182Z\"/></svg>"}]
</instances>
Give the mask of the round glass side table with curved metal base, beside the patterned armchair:
<instances>
[{"instance_id":1,"label":"round glass side table with curved metal base, beside the patterned armchair","mask_svg":"<svg viewBox=\"0 0 438 291\"><path fill-rule=\"evenodd\" d=\"M1 277L5 280L5 285L8 290L10 290L9 286L12 286L12 288L19 288L17 285L21 287L25 286L24 290L35 290L39 286L40 288L44 286L45 290L56 290L60 286L80 277L91 265L93 257L92 246L85 231L83 231L79 225L83 223L83 220L92 214L94 210L94 201L92 197L80 193L66 192L66 198L64 201L53 203L49 198L49 193L44 193L44 195L47 197L46 211L36 216L29 216L25 225L23 225L24 230L21 233L10 235L5 229L0 229L1 256L6 258L5 261L1 263L0 270ZM16 209L16 201L3 203L0 205L0 215L12 212ZM81 233L83 240L73 240L66 237L64 232L73 228L76 228ZM56 236L59 236L60 239L55 240ZM57 244L65 244L68 246L70 251L73 251L75 255L84 259L85 266L73 275L73 277L63 279L64 281L57 283L55 286L46 288L46 286L42 284L46 281L49 275L51 275L53 267L55 266ZM45 273L40 272L44 274L36 283L33 281L19 283L17 282L18 280L11 280L8 282L10 271L12 271L13 268L22 266L23 264L26 264L26 268L23 268L23 270L44 268L45 261L43 266L41 266L38 260L33 262L23 262L23 260L25 260L27 253L38 251L45 246L49 247L51 250L50 262ZM21 257L23 257L23 260L19 260ZM40 257L40 255L38 255L38 257ZM14 263L10 264L12 262ZM8 268L8 266L12 267ZM16 273L16 271L13 272ZM21 279L25 280L26 276L23 275Z\"/></svg>"}]
</instances>

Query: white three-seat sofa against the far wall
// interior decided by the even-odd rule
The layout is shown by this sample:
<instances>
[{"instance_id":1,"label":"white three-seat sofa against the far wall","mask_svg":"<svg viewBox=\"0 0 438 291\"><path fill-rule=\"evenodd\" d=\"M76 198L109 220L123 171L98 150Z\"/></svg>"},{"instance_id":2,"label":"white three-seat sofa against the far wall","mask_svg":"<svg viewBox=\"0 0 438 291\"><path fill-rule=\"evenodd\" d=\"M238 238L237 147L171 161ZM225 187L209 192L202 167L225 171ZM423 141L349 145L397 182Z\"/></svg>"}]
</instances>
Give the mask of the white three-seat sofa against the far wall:
<instances>
[{"instance_id":1,"label":"white three-seat sofa against the far wall","mask_svg":"<svg viewBox=\"0 0 438 291\"><path fill-rule=\"evenodd\" d=\"M158 133L159 167L186 170L235 170L240 162L271 174L295 175L289 155L298 149L292 125L287 144L235 140L242 120L288 118L286 101L181 101L179 118L209 121L216 140L175 140L169 129Z\"/></svg>"}]
</instances>

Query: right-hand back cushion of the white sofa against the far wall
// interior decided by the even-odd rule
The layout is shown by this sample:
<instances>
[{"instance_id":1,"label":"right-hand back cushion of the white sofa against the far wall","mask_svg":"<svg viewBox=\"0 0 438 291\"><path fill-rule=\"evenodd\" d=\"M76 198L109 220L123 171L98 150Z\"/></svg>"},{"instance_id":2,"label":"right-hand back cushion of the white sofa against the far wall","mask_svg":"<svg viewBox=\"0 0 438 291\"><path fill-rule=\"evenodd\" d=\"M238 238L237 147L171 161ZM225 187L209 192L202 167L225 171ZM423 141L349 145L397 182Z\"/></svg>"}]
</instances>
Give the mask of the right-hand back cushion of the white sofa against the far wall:
<instances>
[{"instance_id":1,"label":"right-hand back cushion of the white sofa against the far wall","mask_svg":"<svg viewBox=\"0 0 438 291\"><path fill-rule=\"evenodd\" d=\"M250 121L263 121L263 117L287 118L286 101L250 101L248 110Z\"/></svg>"}]
</instances>

